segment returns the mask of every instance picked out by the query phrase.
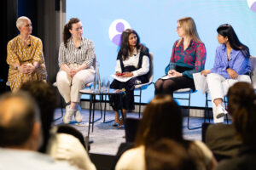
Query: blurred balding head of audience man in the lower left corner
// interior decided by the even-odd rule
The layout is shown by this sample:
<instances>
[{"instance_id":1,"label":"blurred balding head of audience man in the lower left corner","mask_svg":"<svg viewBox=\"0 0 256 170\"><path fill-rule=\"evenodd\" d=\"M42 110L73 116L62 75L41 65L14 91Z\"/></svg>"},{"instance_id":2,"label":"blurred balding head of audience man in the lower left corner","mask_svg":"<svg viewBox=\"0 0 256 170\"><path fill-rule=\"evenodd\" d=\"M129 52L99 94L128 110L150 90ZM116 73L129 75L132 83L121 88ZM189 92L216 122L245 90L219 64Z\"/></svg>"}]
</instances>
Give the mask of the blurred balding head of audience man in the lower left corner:
<instances>
[{"instance_id":1,"label":"blurred balding head of audience man in the lower left corner","mask_svg":"<svg viewBox=\"0 0 256 170\"><path fill-rule=\"evenodd\" d=\"M41 143L38 106L26 92L3 94L0 99L0 147L38 150Z\"/></svg>"}]
</instances>

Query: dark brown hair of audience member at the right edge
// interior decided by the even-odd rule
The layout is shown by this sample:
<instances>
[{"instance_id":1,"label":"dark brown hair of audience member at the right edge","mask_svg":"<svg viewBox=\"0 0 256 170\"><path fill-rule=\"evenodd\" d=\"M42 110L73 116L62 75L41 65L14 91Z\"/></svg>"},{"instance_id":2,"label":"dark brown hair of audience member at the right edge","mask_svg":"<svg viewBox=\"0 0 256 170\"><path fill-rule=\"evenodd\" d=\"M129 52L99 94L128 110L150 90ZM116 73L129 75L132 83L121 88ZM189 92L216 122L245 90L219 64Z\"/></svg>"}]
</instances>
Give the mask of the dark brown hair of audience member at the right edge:
<instances>
[{"instance_id":1,"label":"dark brown hair of audience member at the right edge","mask_svg":"<svg viewBox=\"0 0 256 170\"><path fill-rule=\"evenodd\" d=\"M237 82L229 89L228 110L237 136L247 146L256 144L256 95L251 84Z\"/></svg>"}]
</instances>

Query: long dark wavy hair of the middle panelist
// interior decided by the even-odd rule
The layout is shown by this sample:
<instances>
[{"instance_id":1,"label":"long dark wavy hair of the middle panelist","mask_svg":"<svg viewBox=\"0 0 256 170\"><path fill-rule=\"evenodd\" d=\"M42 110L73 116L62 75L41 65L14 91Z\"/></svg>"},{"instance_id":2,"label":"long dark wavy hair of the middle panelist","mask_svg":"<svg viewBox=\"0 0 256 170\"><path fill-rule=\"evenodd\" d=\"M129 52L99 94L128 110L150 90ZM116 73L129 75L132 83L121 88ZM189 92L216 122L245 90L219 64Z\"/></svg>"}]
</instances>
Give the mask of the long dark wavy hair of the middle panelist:
<instances>
[{"instance_id":1,"label":"long dark wavy hair of the middle panelist","mask_svg":"<svg viewBox=\"0 0 256 170\"><path fill-rule=\"evenodd\" d=\"M124 59L122 59L122 60L125 60L126 58L129 57L129 52L131 50L130 44L129 44L129 36L131 34L135 34L137 36L136 48L141 49L141 50L146 49L143 46L143 44L140 43L140 37L138 36L137 31L128 28L128 29L126 29L125 31L122 32L122 36L121 36L121 47L119 49L119 54L121 54L121 56L124 57Z\"/></svg>"}]
</instances>

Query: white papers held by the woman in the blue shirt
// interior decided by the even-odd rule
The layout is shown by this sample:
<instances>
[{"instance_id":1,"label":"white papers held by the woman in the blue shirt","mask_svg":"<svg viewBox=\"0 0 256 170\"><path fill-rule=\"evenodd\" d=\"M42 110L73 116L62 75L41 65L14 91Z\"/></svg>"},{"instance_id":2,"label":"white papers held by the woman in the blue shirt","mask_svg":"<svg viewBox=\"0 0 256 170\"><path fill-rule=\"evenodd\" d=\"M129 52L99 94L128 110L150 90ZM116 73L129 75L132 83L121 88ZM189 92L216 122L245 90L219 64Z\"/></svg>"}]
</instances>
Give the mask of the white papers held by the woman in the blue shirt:
<instances>
[{"instance_id":1,"label":"white papers held by the woman in the blue shirt","mask_svg":"<svg viewBox=\"0 0 256 170\"><path fill-rule=\"evenodd\" d=\"M207 77L198 72L193 74L193 78L195 82L195 89L201 90L201 93L205 94L208 89Z\"/></svg>"}]
</instances>

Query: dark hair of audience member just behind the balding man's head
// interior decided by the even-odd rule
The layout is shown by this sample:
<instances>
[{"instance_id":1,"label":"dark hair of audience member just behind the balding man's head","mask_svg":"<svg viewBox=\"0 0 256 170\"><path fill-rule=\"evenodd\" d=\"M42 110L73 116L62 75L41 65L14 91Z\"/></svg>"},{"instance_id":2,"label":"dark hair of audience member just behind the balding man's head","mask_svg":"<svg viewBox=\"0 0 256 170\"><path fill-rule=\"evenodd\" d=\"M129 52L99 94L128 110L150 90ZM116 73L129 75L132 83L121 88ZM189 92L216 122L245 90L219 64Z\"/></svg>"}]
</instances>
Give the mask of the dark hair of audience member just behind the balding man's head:
<instances>
[{"instance_id":1,"label":"dark hair of audience member just behind the balding man's head","mask_svg":"<svg viewBox=\"0 0 256 170\"><path fill-rule=\"evenodd\" d=\"M51 123L53 122L54 112L56 108L55 90L46 82L35 81L25 82L24 84L22 84L20 89L30 93L38 103L44 134L44 142L39 151L44 153L48 144L49 129L51 127Z\"/></svg>"}]
</instances>

